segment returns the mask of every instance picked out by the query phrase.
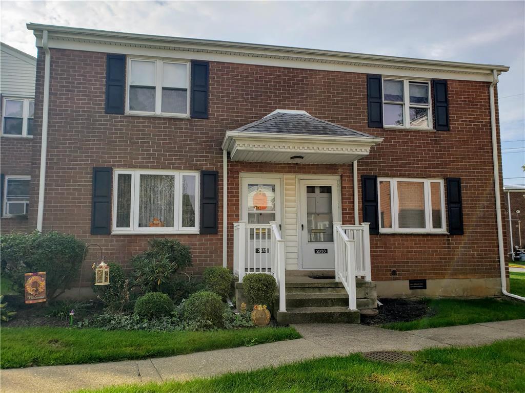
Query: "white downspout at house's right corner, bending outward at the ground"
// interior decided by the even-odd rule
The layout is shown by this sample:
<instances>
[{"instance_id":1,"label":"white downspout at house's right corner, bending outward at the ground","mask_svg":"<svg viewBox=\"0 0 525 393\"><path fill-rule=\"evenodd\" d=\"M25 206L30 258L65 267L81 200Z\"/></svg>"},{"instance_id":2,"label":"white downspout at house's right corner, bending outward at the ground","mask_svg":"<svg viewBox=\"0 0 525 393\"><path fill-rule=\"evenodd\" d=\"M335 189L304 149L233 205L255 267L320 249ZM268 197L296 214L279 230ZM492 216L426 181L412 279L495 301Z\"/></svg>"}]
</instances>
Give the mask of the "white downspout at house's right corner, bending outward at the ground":
<instances>
[{"instance_id":1,"label":"white downspout at house's right corner, bending outward at the ground","mask_svg":"<svg viewBox=\"0 0 525 393\"><path fill-rule=\"evenodd\" d=\"M499 189L499 161L498 139L496 134L496 104L494 101L494 86L498 84L498 72L492 70L492 83L489 88L490 99L490 127L492 132L492 164L494 168L494 190L496 192L496 222L498 225L499 268L501 275L501 292L508 297L525 301L525 298L507 291L507 277L505 276L505 249L503 248L503 225L501 223L501 198Z\"/></svg>"}]
</instances>

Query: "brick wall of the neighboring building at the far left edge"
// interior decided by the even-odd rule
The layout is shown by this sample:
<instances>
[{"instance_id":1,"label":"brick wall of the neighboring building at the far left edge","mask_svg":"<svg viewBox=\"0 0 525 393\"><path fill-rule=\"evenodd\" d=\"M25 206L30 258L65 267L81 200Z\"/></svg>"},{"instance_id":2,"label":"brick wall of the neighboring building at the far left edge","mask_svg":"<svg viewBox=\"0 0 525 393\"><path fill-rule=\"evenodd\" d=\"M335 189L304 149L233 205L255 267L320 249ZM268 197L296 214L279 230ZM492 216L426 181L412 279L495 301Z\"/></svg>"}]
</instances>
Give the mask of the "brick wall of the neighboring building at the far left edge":
<instances>
[{"instance_id":1,"label":"brick wall of the neighboring building at the far left edge","mask_svg":"<svg viewBox=\"0 0 525 393\"><path fill-rule=\"evenodd\" d=\"M2 102L2 100L0 100ZM0 113L2 111L0 104ZM31 174L31 146L32 138L0 137L0 170L4 175L30 175ZM0 201L4 203L4 201ZM30 206L33 208L34 206ZM27 218L1 218L0 232L2 234L30 231Z\"/></svg>"}]
</instances>

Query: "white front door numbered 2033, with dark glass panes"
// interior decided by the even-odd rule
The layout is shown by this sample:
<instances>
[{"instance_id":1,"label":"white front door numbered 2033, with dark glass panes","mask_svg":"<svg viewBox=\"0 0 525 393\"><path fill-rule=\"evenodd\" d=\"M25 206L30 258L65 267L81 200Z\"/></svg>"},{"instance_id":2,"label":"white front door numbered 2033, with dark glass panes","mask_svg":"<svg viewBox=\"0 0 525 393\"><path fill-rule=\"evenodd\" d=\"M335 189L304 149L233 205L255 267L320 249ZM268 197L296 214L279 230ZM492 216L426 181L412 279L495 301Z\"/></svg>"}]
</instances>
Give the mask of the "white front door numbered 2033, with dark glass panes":
<instances>
[{"instance_id":1,"label":"white front door numbered 2033, with dark glass panes","mask_svg":"<svg viewBox=\"0 0 525 393\"><path fill-rule=\"evenodd\" d=\"M300 180L301 269L335 269L333 221L339 221L337 180Z\"/></svg>"}]
</instances>

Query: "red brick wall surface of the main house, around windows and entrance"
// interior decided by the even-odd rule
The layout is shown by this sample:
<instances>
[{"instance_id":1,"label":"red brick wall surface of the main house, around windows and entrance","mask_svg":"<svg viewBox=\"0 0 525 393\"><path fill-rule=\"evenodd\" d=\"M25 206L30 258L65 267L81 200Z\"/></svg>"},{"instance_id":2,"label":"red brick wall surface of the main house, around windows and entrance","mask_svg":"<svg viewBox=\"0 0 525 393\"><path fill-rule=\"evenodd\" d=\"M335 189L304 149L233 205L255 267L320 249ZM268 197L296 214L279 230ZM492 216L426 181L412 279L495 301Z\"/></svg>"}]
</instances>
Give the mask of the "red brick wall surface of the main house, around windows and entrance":
<instances>
[{"instance_id":1,"label":"red brick wall surface of the main house, around windows and entrance","mask_svg":"<svg viewBox=\"0 0 525 393\"><path fill-rule=\"evenodd\" d=\"M450 132L368 129L366 75L357 73L210 64L209 119L104 114L106 54L51 50L48 167L44 230L73 233L96 242L108 260L127 264L149 236L91 236L91 168L218 170L222 197L222 150L226 130L276 110L305 110L384 142L359 161L359 174L404 177L461 177L464 236L372 236L376 280L390 278L496 277L497 238L493 205L488 83L449 81ZM38 54L35 140L40 139L44 56ZM79 77L81 74L81 77ZM39 149L33 149L33 179ZM229 162L228 228L238 220L238 172L340 173L343 220L353 222L351 166L307 166ZM36 204L33 181L31 203ZM31 210L36 222L36 209ZM222 261L222 201L217 235L173 235L191 245L193 271ZM233 234L229 231L231 263ZM95 255L96 253L92 253ZM88 277L91 263L86 263ZM82 279L87 283L89 279Z\"/></svg>"}]
</instances>

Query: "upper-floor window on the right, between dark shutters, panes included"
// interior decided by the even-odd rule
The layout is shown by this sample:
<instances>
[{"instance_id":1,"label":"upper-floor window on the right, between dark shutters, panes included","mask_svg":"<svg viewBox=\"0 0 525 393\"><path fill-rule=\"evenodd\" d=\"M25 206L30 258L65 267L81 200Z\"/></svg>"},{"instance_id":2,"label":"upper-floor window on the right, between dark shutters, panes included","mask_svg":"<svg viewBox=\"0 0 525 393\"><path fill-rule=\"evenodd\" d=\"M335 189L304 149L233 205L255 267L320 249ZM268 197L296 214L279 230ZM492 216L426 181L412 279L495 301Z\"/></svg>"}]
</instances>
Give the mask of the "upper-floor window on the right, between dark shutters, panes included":
<instances>
[{"instance_id":1,"label":"upper-floor window on the right, between dark shutters, panes included","mask_svg":"<svg viewBox=\"0 0 525 393\"><path fill-rule=\"evenodd\" d=\"M432 128L430 82L383 79L385 127Z\"/></svg>"}]
</instances>

